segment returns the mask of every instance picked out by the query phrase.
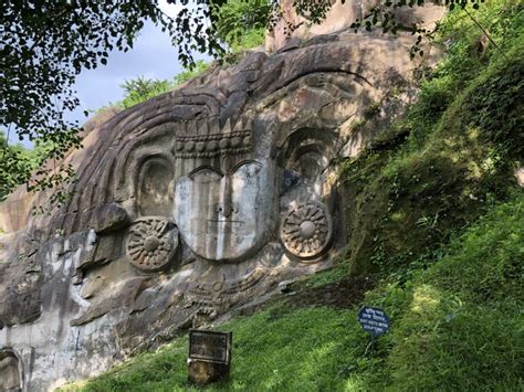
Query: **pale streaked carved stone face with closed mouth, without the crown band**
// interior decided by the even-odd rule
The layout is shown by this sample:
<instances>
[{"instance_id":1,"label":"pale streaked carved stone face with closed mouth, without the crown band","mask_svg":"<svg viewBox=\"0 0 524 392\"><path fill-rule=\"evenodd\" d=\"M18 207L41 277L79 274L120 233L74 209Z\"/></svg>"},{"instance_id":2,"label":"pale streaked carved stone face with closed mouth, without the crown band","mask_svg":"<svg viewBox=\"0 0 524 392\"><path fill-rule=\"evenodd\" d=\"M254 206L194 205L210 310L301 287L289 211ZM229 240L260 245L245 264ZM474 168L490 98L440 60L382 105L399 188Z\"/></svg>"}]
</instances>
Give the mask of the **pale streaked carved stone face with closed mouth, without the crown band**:
<instances>
[{"instance_id":1,"label":"pale streaked carved stone face with closed mouth, without the crown band","mask_svg":"<svg viewBox=\"0 0 524 392\"><path fill-rule=\"evenodd\" d=\"M239 262L264 244L273 194L271 161L243 160L224 171L201 166L176 183L175 222L197 255Z\"/></svg>"}]
</instances>

